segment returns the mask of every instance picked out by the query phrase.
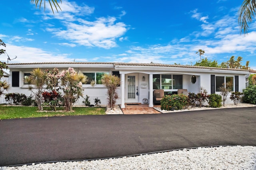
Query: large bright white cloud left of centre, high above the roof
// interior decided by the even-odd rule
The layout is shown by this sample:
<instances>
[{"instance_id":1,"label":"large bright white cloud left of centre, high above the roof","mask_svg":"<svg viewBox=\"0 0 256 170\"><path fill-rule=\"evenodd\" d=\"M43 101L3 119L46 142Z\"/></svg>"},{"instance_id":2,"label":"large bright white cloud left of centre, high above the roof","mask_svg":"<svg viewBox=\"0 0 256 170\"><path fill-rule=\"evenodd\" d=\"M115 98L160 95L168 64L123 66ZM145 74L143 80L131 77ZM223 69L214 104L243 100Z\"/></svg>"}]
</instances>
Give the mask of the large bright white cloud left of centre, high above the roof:
<instances>
[{"instance_id":1,"label":"large bright white cloud left of centre, high above the roof","mask_svg":"<svg viewBox=\"0 0 256 170\"><path fill-rule=\"evenodd\" d=\"M116 47L116 38L124 35L127 26L122 22L116 22L116 18L98 18L94 22L79 19L79 24L63 22L66 30L61 28L47 28L55 36L70 40L73 43L87 47L102 47L110 49Z\"/></svg>"}]
</instances>

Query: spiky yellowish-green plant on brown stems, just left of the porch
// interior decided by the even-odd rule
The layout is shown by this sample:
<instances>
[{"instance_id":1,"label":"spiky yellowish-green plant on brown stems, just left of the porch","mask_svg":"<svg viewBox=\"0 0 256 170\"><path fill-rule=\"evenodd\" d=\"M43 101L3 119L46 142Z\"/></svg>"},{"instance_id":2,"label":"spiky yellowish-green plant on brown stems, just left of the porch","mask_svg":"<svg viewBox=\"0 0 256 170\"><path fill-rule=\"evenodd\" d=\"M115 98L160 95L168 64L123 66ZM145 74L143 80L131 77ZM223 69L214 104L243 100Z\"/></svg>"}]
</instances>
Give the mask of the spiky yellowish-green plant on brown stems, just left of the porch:
<instances>
[{"instance_id":1,"label":"spiky yellowish-green plant on brown stems, just left of the porch","mask_svg":"<svg viewBox=\"0 0 256 170\"><path fill-rule=\"evenodd\" d=\"M116 93L117 87L120 85L120 77L116 75L104 74L102 79L102 84L107 88L108 95L108 106L111 110L115 108L116 100L118 99L118 94Z\"/></svg>"}]
</instances>

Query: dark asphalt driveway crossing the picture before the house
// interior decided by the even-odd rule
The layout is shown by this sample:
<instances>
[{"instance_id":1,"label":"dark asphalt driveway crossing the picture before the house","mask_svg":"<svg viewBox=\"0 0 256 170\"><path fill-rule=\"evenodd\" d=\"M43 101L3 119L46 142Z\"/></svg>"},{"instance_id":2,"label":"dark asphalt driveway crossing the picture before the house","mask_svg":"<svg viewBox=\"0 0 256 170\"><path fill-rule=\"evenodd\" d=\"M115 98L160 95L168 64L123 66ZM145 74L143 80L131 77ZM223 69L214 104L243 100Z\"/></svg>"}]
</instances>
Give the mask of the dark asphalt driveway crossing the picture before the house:
<instances>
[{"instance_id":1,"label":"dark asphalt driveway crossing the picture before the house","mask_svg":"<svg viewBox=\"0 0 256 170\"><path fill-rule=\"evenodd\" d=\"M230 144L256 146L256 107L0 121L0 166Z\"/></svg>"}]
</instances>

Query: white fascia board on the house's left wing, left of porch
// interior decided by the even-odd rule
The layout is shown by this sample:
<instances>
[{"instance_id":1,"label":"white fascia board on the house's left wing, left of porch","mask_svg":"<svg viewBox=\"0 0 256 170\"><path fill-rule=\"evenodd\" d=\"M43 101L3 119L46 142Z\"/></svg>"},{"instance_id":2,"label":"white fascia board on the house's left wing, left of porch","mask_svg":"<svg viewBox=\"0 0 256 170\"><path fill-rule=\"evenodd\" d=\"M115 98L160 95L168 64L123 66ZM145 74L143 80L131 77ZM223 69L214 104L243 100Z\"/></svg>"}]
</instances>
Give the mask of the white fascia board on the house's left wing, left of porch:
<instances>
[{"instance_id":1,"label":"white fascia board on the house's left wing, left of porch","mask_svg":"<svg viewBox=\"0 0 256 170\"><path fill-rule=\"evenodd\" d=\"M10 69L19 69L19 68L68 68L68 67L74 67L74 68L114 68L113 64L15 64L15 65L8 65Z\"/></svg>"}]
</instances>

